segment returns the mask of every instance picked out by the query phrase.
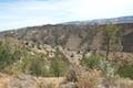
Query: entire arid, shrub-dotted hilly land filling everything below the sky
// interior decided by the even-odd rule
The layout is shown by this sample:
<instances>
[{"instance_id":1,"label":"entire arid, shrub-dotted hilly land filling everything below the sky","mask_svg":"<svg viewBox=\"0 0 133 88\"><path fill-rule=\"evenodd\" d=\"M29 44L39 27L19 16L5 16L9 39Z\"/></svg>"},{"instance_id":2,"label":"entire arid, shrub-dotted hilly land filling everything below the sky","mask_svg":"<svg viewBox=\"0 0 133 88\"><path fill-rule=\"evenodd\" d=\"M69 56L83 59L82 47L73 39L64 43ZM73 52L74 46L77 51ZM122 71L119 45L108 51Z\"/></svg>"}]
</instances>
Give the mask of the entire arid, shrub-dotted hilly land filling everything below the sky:
<instances>
[{"instance_id":1,"label":"entire arid, shrub-dotted hilly land filling everything below the sky","mask_svg":"<svg viewBox=\"0 0 133 88\"><path fill-rule=\"evenodd\" d=\"M132 88L129 19L0 32L0 88Z\"/></svg>"}]
</instances>

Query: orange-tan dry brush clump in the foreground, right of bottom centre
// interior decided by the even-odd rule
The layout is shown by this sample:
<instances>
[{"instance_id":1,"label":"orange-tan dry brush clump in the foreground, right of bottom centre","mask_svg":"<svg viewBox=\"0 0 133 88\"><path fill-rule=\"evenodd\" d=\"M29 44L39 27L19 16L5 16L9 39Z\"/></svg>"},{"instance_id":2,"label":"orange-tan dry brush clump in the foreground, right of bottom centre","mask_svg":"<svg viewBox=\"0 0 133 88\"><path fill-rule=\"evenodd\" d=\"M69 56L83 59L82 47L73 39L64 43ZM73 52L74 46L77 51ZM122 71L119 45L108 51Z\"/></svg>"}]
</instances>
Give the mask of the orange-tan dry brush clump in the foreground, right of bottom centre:
<instances>
[{"instance_id":1,"label":"orange-tan dry brush clump in the foreground, right of bottom centre","mask_svg":"<svg viewBox=\"0 0 133 88\"><path fill-rule=\"evenodd\" d=\"M91 70L78 75L78 88L98 88L100 86L101 72Z\"/></svg>"}]
</instances>

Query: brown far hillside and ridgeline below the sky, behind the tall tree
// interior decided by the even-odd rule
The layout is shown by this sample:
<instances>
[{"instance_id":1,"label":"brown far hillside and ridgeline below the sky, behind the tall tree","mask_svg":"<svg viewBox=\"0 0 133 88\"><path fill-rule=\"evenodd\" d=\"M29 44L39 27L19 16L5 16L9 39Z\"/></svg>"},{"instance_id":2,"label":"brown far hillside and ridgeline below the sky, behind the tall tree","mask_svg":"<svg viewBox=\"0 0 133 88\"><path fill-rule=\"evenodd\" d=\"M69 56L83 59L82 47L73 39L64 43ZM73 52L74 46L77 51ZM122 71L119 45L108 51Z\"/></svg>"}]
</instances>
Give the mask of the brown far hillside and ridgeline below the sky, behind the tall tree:
<instances>
[{"instance_id":1,"label":"brown far hillside and ridgeline below the sky, behind the tall tree","mask_svg":"<svg viewBox=\"0 0 133 88\"><path fill-rule=\"evenodd\" d=\"M104 50L105 35L100 28L110 22L121 26L123 31L122 50L120 51L133 52L133 16L30 26L1 32L0 37L12 36L41 45L61 45L70 51Z\"/></svg>"}]
</instances>

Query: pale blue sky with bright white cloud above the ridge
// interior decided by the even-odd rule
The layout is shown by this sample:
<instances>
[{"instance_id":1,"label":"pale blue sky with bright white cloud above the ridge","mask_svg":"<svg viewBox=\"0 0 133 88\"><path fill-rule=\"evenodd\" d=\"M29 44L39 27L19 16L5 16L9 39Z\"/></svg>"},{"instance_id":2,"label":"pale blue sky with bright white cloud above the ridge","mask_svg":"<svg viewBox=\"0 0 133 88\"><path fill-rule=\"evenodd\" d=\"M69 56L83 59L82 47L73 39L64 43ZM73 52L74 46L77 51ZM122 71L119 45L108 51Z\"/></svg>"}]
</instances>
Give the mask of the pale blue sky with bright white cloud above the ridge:
<instances>
[{"instance_id":1,"label":"pale blue sky with bright white cloud above the ridge","mask_svg":"<svg viewBox=\"0 0 133 88\"><path fill-rule=\"evenodd\" d=\"M0 0L0 31L133 15L133 0Z\"/></svg>"}]
</instances>

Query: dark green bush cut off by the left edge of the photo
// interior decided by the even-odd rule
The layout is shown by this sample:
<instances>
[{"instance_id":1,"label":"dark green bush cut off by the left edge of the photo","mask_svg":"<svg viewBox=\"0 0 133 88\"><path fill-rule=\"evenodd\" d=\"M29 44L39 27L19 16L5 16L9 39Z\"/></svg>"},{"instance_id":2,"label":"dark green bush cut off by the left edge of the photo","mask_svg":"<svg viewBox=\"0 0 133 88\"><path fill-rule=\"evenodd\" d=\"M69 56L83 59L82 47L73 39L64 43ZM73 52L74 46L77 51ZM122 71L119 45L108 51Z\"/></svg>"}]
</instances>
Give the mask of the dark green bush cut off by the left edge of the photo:
<instances>
[{"instance_id":1,"label":"dark green bush cut off by the left edge of the photo","mask_svg":"<svg viewBox=\"0 0 133 88\"><path fill-rule=\"evenodd\" d=\"M21 57L19 48L12 50L8 44L0 45L0 69L11 66Z\"/></svg>"}]
</instances>

